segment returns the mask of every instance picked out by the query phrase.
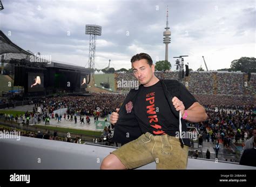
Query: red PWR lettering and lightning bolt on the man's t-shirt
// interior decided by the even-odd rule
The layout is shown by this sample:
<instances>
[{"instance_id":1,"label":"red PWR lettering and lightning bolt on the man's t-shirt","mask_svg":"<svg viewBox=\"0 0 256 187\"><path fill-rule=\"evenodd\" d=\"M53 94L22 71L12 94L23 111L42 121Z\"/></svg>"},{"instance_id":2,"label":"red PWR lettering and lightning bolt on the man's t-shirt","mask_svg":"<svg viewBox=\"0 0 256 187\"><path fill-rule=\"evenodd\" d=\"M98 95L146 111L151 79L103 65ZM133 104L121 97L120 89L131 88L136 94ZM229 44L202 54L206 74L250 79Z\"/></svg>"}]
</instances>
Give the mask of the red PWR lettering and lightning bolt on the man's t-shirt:
<instances>
[{"instance_id":1,"label":"red PWR lettering and lightning bolt on the man's t-shirt","mask_svg":"<svg viewBox=\"0 0 256 187\"><path fill-rule=\"evenodd\" d=\"M150 126L153 128L156 128L157 131L153 131L154 134L165 134L164 131L161 131L160 129L162 128L161 125L158 125L158 118L157 118L157 112L156 108L154 107L154 95L155 92L147 93L146 95L146 101L149 102L147 103L147 114L150 114L147 116L149 118Z\"/></svg>"}]
</instances>

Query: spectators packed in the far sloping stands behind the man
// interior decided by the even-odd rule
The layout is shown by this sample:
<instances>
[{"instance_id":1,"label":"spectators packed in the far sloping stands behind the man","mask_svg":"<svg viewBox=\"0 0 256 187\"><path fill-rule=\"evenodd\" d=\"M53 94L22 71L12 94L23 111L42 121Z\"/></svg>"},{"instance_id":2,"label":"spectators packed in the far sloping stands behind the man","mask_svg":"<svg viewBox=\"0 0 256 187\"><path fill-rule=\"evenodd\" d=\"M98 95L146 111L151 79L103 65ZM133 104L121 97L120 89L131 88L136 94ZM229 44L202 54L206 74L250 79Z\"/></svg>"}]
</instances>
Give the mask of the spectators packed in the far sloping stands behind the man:
<instances>
[{"instance_id":1,"label":"spectators packed in the far sloping stands behind the man","mask_svg":"<svg viewBox=\"0 0 256 187\"><path fill-rule=\"evenodd\" d=\"M156 76L164 79L179 80L177 71L156 72ZM183 81L187 82L188 90L193 94L217 95L256 95L256 75L252 74L250 81L245 73L217 73L207 71L192 71ZM135 81L133 73L117 73L115 81ZM245 83L246 82L246 83ZM118 92L128 92L130 88L117 88Z\"/></svg>"}]
</instances>

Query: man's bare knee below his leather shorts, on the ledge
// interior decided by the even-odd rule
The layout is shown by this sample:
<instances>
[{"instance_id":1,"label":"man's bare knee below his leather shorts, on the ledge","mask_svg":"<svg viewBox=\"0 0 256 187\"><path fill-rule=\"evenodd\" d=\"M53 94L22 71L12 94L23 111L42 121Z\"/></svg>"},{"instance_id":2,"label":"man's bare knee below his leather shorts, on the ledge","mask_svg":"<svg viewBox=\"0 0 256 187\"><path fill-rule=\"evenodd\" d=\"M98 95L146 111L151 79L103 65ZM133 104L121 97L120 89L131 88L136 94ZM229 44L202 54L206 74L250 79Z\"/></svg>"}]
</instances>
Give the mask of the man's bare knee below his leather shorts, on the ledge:
<instances>
[{"instance_id":1,"label":"man's bare knee below his leather shorts, on the ledge","mask_svg":"<svg viewBox=\"0 0 256 187\"><path fill-rule=\"evenodd\" d=\"M100 169L126 169L116 155L110 154L103 159Z\"/></svg>"}]
</instances>

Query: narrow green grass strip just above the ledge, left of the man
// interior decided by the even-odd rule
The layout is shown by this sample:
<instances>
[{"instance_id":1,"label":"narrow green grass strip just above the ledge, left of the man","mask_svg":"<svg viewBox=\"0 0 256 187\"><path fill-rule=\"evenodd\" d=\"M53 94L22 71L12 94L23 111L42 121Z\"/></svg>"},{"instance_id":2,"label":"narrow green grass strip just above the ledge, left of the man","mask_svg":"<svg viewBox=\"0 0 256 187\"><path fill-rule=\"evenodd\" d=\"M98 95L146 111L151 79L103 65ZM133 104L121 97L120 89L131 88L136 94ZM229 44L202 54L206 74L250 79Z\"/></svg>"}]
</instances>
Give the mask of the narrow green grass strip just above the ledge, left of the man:
<instances>
[{"instance_id":1,"label":"narrow green grass strip just above the ledge, left of the man","mask_svg":"<svg viewBox=\"0 0 256 187\"><path fill-rule=\"evenodd\" d=\"M97 131L85 131L85 130L79 130L74 128L62 128L62 127L52 127L52 126L44 126L44 125L33 125L40 128L46 128L49 130L56 130L56 131L62 131L62 132L69 132L69 133L77 133L77 134L83 134L83 135L92 135L92 136L100 136L102 132Z\"/></svg>"}]
</instances>

